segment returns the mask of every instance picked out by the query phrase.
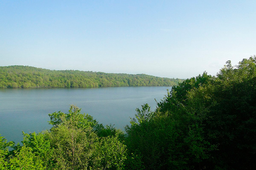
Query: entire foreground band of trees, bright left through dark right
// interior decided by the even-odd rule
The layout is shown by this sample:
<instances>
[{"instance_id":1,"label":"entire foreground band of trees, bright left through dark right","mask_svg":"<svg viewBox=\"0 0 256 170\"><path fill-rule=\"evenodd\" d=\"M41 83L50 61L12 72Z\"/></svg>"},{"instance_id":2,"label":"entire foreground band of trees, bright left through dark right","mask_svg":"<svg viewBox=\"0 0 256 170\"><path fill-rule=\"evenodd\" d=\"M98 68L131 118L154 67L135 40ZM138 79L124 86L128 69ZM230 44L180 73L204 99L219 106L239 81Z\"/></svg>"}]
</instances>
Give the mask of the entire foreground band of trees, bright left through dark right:
<instances>
[{"instance_id":1,"label":"entire foreground band of trees, bright left through dark right","mask_svg":"<svg viewBox=\"0 0 256 170\"><path fill-rule=\"evenodd\" d=\"M155 111L142 105L126 134L76 106L50 118L12 151L0 138L0 169L255 169L256 56L187 79Z\"/></svg>"}]
</instances>

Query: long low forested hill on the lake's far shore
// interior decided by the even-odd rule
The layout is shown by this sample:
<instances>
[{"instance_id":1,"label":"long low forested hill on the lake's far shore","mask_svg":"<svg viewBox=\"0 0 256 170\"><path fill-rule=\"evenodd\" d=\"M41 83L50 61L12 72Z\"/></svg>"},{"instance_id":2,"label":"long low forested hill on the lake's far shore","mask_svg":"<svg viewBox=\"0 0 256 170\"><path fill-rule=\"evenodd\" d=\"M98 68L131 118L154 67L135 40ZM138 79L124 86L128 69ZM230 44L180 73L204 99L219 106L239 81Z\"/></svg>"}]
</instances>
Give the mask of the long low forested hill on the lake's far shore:
<instances>
[{"instance_id":1,"label":"long low forested hill on the lake's far shore","mask_svg":"<svg viewBox=\"0 0 256 170\"><path fill-rule=\"evenodd\" d=\"M146 74L56 71L20 65L0 67L0 88L176 86L182 81Z\"/></svg>"}]
</instances>

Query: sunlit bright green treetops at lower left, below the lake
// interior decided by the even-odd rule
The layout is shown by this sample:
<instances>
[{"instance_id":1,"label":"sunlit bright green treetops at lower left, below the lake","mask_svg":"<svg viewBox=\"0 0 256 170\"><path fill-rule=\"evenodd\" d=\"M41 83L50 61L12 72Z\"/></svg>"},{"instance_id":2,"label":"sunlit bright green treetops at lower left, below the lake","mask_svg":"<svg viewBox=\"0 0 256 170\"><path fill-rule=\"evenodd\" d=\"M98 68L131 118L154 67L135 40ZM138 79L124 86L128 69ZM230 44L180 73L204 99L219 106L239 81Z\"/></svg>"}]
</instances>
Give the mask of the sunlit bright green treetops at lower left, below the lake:
<instances>
[{"instance_id":1,"label":"sunlit bright green treetops at lower left, below the lake","mask_svg":"<svg viewBox=\"0 0 256 170\"><path fill-rule=\"evenodd\" d=\"M124 169L122 132L99 124L74 105L68 113L49 116L53 127L23 133L22 146L0 137L0 169ZM98 135L101 131L111 133Z\"/></svg>"}]
</instances>

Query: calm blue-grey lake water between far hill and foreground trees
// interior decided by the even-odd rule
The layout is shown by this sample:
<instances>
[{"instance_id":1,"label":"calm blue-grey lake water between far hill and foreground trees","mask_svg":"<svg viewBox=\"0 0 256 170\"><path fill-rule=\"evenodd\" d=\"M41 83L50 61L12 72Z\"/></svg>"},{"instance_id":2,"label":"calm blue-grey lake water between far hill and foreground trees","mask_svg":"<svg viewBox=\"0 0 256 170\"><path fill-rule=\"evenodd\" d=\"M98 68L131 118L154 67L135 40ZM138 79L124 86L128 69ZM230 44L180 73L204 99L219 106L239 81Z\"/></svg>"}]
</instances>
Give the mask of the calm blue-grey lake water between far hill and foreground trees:
<instances>
[{"instance_id":1,"label":"calm blue-grey lake water between far hill and foreground trees","mask_svg":"<svg viewBox=\"0 0 256 170\"><path fill-rule=\"evenodd\" d=\"M49 113L67 113L69 105L82 108L103 125L124 130L135 108L148 103L152 110L171 87L115 87L75 89L0 89L0 134L8 141L22 141L25 133L50 129Z\"/></svg>"}]
</instances>

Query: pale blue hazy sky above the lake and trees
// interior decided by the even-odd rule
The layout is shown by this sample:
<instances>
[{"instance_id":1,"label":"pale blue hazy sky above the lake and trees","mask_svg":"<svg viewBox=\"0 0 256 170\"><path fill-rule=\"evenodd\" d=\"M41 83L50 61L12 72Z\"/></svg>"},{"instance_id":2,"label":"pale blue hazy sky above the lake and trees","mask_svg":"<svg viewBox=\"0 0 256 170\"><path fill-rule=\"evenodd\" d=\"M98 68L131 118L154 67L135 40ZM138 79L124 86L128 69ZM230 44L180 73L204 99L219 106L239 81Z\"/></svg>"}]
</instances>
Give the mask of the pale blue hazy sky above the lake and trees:
<instances>
[{"instance_id":1,"label":"pale blue hazy sky above the lake and trees","mask_svg":"<svg viewBox=\"0 0 256 170\"><path fill-rule=\"evenodd\" d=\"M256 55L255 8L255 0L0 0L0 66L215 75Z\"/></svg>"}]
</instances>

